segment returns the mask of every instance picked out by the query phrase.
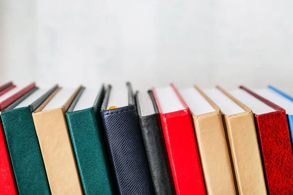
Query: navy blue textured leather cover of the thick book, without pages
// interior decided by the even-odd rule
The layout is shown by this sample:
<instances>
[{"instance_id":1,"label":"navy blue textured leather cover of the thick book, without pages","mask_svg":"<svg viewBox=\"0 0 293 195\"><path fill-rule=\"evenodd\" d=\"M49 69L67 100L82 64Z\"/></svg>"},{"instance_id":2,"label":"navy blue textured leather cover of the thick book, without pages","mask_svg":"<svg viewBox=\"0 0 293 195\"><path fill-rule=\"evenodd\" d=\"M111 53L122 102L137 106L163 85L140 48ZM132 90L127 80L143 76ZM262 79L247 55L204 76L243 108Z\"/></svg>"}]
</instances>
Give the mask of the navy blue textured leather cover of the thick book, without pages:
<instances>
[{"instance_id":1,"label":"navy blue textured leather cover of the thick book, without pages","mask_svg":"<svg viewBox=\"0 0 293 195\"><path fill-rule=\"evenodd\" d=\"M128 106L107 110L109 85L101 108L113 177L120 195L151 195L152 181L130 83L127 89Z\"/></svg>"}]
</instances>

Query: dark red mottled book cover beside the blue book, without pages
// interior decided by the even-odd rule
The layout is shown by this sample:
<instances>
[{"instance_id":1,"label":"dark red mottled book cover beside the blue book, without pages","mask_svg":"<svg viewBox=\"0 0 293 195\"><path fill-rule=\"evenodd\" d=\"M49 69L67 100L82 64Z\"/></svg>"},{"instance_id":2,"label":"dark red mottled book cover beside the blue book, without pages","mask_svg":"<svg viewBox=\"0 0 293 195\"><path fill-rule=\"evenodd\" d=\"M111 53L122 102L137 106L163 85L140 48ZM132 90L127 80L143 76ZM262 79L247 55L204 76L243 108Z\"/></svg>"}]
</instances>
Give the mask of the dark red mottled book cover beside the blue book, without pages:
<instances>
[{"instance_id":1,"label":"dark red mottled book cover beside the blue book, without pages","mask_svg":"<svg viewBox=\"0 0 293 195\"><path fill-rule=\"evenodd\" d=\"M270 195L293 195L293 153L286 111L246 87L240 88L276 110L254 114L259 148Z\"/></svg>"}]
</instances>

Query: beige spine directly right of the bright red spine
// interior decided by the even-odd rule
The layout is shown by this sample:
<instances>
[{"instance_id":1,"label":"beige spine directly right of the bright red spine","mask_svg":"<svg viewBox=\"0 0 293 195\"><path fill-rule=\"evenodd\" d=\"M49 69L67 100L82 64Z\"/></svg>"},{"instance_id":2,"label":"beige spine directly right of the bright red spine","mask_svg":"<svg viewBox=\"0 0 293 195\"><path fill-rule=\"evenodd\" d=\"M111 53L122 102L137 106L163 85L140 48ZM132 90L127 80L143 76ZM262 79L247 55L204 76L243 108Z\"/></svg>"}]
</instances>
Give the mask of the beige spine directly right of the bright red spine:
<instances>
[{"instance_id":1,"label":"beige spine directly right of the bright red spine","mask_svg":"<svg viewBox=\"0 0 293 195\"><path fill-rule=\"evenodd\" d=\"M235 195L221 113L192 115L208 195Z\"/></svg>"}]
</instances>

